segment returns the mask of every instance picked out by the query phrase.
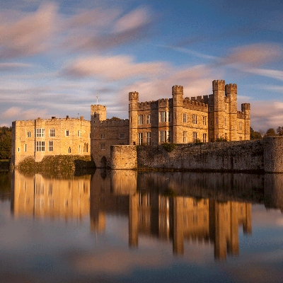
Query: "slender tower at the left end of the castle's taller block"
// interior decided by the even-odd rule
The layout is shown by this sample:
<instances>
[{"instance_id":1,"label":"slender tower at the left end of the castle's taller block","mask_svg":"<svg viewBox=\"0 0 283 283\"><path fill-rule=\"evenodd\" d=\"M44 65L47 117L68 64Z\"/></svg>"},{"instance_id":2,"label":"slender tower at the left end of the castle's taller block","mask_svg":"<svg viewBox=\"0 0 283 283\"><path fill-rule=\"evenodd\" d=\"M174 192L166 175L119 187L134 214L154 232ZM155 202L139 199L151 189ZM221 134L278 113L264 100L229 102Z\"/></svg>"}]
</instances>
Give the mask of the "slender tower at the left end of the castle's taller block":
<instances>
[{"instance_id":1,"label":"slender tower at the left end of the castle's taller block","mask_svg":"<svg viewBox=\"0 0 283 283\"><path fill-rule=\"evenodd\" d=\"M137 103L139 93L137 91L129 93L129 144L137 144Z\"/></svg>"}]
</instances>

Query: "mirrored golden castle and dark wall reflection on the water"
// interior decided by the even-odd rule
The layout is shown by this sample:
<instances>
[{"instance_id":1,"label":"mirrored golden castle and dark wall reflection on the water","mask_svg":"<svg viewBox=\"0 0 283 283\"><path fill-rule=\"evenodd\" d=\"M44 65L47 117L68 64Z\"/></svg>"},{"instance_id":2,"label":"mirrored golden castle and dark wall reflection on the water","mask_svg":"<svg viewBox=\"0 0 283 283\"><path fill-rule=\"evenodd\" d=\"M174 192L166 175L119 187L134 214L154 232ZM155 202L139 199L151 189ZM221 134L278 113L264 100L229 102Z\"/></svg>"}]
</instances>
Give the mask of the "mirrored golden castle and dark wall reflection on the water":
<instances>
[{"instance_id":1,"label":"mirrored golden castle and dark wall reflection on the water","mask_svg":"<svg viewBox=\"0 0 283 283\"><path fill-rule=\"evenodd\" d=\"M19 216L91 218L91 231L105 231L106 215L129 219L129 246L139 236L172 241L182 255L185 241L214 244L214 257L238 255L239 226L252 233L252 203L280 207L282 175L137 173L96 170L93 175L50 178L13 173L11 211ZM282 206L283 207L283 206Z\"/></svg>"}]
</instances>

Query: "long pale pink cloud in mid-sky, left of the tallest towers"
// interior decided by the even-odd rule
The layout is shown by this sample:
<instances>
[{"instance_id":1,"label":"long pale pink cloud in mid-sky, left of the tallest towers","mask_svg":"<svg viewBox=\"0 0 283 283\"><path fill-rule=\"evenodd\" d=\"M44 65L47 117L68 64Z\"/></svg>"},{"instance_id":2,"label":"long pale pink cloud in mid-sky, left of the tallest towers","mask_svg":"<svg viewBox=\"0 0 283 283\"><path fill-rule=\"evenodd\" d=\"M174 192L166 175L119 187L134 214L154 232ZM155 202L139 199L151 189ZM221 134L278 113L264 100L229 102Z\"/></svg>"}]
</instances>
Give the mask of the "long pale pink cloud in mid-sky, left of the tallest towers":
<instances>
[{"instance_id":1,"label":"long pale pink cloud in mid-sky, left of the tallest towers","mask_svg":"<svg viewBox=\"0 0 283 283\"><path fill-rule=\"evenodd\" d=\"M62 72L67 76L96 76L106 80L120 80L154 76L161 74L166 67L163 62L134 63L132 57L125 55L96 56L77 59Z\"/></svg>"}]
</instances>

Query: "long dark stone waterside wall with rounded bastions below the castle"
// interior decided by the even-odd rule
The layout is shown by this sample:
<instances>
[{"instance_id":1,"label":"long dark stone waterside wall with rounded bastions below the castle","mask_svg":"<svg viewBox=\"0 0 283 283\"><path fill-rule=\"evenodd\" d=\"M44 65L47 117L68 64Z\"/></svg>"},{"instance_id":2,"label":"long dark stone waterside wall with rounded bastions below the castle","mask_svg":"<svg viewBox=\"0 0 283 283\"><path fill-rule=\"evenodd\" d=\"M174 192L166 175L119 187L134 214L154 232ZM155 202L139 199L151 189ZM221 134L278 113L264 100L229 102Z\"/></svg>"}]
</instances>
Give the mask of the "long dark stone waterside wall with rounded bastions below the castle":
<instances>
[{"instance_id":1,"label":"long dark stone waterside wall with rounded bastions below the castle","mask_svg":"<svg viewBox=\"0 0 283 283\"><path fill-rule=\"evenodd\" d=\"M123 152L125 161L127 158L134 158L135 146L132 146L132 151L129 149L130 147L127 151L122 151L120 146L112 146L113 153ZM163 145L137 146L137 168L283 173L282 156L283 137L200 145L176 144L171 152L166 151ZM127 163L120 159L120 155L112 154L112 166L115 169L127 169Z\"/></svg>"}]
</instances>

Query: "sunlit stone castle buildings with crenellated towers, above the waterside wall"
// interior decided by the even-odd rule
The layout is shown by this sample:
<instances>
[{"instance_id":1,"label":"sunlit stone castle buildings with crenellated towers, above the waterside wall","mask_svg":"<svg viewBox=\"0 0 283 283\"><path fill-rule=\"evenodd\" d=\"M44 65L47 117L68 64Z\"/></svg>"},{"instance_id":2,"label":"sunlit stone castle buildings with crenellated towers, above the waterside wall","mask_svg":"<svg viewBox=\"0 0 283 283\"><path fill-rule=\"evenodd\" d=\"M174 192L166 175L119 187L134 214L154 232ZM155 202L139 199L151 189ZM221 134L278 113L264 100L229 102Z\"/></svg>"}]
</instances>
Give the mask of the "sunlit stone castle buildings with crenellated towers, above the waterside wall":
<instances>
[{"instance_id":1,"label":"sunlit stone castle buildings with crenellated towers, above the waterside wall","mask_svg":"<svg viewBox=\"0 0 283 283\"><path fill-rule=\"evenodd\" d=\"M183 98L183 86L173 86L172 98L144 103L139 103L139 93L130 92L126 120L106 119L104 105L91 105L91 121L83 117L15 121L12 163L17 166L27 156L40 161L45 155L91 154L96 166L103 168L110 166L110 146L116 144L249 140L250 104L237 110L237 85L214 80L212 91L209 96Z\"/></svg>"}]
</instances>

